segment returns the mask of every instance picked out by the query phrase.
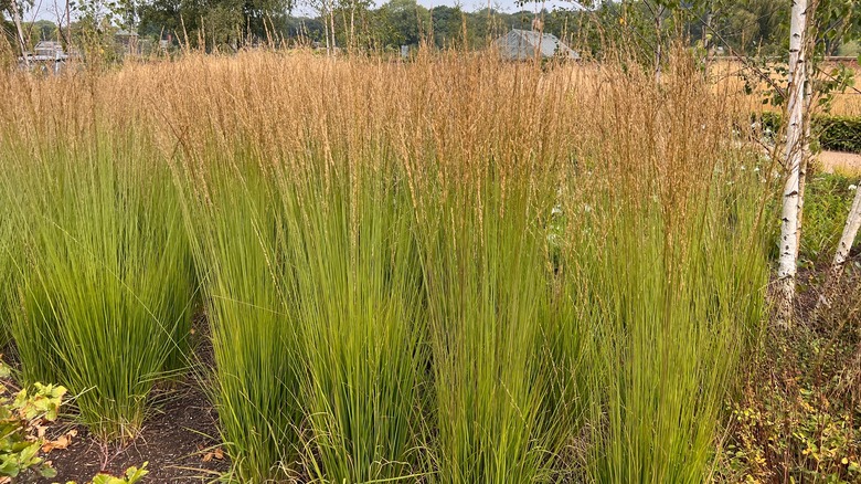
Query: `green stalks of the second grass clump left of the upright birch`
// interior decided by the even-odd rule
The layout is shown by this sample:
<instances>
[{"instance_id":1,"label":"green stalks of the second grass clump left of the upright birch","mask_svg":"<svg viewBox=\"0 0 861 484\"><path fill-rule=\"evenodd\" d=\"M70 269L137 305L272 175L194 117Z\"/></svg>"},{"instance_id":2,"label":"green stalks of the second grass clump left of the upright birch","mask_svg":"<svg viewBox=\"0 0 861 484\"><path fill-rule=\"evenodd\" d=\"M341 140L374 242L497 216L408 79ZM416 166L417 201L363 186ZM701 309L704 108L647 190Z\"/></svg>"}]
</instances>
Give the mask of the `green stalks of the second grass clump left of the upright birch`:
<instances>
[{"instance_id":1,"label":"green stalks of the second grass clump left of the upright birch","mask_svg":"<svg viewBox=\"0 0 861 484\"><path fill-rule=\"evenodd\" d=\"M419 245L439 482L548 481L570 430L566 406L545 413L555 375L543 345L556 322L540 213L552 206L493 178L423 207L437 221Z\"/></svg>"}]
</instances>

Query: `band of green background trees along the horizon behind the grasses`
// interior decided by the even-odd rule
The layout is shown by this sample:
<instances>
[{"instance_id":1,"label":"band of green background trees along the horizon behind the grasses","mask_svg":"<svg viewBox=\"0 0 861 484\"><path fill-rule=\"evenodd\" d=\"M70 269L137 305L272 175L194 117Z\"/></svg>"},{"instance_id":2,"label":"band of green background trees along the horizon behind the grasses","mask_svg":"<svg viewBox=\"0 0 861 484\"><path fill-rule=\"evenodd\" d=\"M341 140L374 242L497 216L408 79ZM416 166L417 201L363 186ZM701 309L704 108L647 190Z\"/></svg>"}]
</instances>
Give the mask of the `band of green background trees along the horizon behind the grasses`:
<instances>
[{"instance_id":1,"label":"band of green background trees along the horizon behind the grasses","mask_svg":"<svg viewBox=\"0 0 861 484\"><path fill-rule=\"evenodd\" d=\"M0 28L13 39L7 20L10 1L0 0ZM616 44L648 60L656 48L680 36L744 55L787 50L788 0L586 0L552 11L538 3L521 4L517 12L487 8L468 12L460 7L428 9L416 0L309 0L300 6L294 0L81 0L74 10L78 23L96 28L110 23L137 30L144 39L188 39L191 46L206 49L272 39L320 44L333 39L338 46L384 50L427 40L438 48L477 49L512 28L529 30L540 18L545 32L593 55ZM305 15L293 14L295 7ZM861 31L859 7L852 0L820 0L820 10L821 49L837 53L850 40L837 32ZM309 11L316 14L308 15ZM39 29L42 36L50 30Z\"/></svg>"}]
</instances>

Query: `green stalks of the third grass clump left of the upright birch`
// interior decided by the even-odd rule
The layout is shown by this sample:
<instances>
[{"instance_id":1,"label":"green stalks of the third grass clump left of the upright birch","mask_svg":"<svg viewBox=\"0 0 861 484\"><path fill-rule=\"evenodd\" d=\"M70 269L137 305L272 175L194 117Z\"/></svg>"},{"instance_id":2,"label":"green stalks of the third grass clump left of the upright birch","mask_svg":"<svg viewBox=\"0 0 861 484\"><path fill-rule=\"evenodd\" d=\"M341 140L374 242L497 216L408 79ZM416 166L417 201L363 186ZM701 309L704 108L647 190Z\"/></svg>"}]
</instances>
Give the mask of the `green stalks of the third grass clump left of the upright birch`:
<instances>
[{"instance_id":1,"label":"green stalks of the third grass clump left of the upright birch","mask_svg":"<svg viewBox=\"0 0 861 484\"><path fill-rule=\"evenodd\" d=\"M410 197L392 164L340 168L328 186L307 173L281 192L294 213L306 465L331 482L417 478L427 358Z\"/></svg>"}]
</instances>

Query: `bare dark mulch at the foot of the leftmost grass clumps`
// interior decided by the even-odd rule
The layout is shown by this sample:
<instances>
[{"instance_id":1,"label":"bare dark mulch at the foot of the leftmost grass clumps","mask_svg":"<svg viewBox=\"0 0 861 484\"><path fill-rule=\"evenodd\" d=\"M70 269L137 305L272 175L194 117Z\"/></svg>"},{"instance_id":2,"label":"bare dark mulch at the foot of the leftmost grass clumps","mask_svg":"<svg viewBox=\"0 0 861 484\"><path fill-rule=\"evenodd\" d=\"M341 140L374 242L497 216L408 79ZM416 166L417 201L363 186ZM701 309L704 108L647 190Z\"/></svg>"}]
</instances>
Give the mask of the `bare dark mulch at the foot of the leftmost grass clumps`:
<instances>
[{"instance_id":1,"label":"bare dark mulch at the foot of the leftmost grass clumps","mask_svg":"<svg viewBox=\"0 0 861 484\"><path fill-rule=\"evenodd\" d=\"M226 456L213 452L220 444L215 410L195 385L161 391L153 398L153 412L140 435L125 445L103 445L84 428L56 425L59 434L77 430L63 450L47 455L57 471L53 482L89 482L99 472L121 475L130 466L147 464L147 483L202 483L227 470ZM208 455L209 454L209 455ZM221 456L221 452L217 452Z\"/></svg>"}]
</instances>

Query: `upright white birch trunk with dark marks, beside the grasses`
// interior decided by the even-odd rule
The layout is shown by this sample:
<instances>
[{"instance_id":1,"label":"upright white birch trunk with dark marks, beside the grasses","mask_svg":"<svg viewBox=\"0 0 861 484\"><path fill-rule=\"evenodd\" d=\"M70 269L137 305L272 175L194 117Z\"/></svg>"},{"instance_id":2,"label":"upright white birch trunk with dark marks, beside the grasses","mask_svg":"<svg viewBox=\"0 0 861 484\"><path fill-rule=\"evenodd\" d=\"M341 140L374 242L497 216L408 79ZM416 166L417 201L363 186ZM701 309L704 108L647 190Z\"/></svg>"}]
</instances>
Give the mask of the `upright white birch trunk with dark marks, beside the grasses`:
<instances>
[{"instance_id":1,"label":"upright white birch trunk with dark marks, beside the grasses","mask_svg":"<svg viewBox=\"0 0 861 484\"><path fill-rule=\"evenodd\" d=\"M780 257L777 269L777 323L782 327L793 324L795 280L798 269L798 213L800 206L800 171L805 146L805 87L807 0L793 0L789 30L789 87L786 128L786 185L780 211Z\"/></svg>"}]
</instances>

